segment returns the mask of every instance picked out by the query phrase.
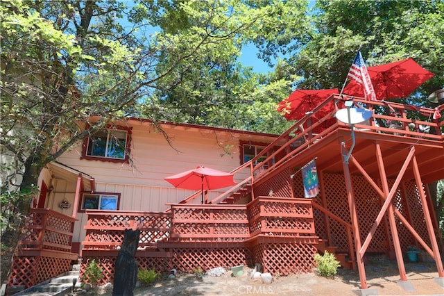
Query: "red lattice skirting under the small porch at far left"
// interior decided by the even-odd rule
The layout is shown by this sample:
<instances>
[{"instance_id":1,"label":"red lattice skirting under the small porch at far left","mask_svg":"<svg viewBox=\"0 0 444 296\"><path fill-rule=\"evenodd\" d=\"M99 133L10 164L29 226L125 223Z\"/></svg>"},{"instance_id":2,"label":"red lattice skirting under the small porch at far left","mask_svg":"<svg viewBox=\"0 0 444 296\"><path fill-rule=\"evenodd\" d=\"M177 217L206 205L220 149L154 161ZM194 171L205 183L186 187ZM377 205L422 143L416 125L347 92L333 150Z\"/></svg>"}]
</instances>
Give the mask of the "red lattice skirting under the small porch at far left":
<instances>
[{"instance_id":1,"label":"red lattice skirting under the small porch at far left","mask_svg":"<svg viewBox=\"0 0 444 296\"><path fill-rule=\"evenodd\" d=\"M46 256L16 256L12 263L8 286L37 285L69 270L71 260Z\"/></svg>"}]
</instances>

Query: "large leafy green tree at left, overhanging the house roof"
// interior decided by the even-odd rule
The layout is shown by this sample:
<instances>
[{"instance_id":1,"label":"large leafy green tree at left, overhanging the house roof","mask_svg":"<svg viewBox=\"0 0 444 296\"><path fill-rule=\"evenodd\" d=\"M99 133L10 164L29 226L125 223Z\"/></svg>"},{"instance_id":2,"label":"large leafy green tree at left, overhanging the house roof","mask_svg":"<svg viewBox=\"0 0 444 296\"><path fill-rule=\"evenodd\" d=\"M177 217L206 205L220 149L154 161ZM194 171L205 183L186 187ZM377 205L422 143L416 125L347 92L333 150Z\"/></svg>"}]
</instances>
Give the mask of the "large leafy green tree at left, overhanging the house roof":
<instances>
[{"instance_id":1,"label":"large leafy green tree at left, overhanging the house roof","mask_svg":"<svg viewBox=\"0 0 444 296\"><path fill-rule=\"evenodd\" d=\"M227 124L216 109L256 90L242 45L290 24L279 2L1 1L2 267L42 168L74 143L127 115Z\"/></svg>"}]
</instances>

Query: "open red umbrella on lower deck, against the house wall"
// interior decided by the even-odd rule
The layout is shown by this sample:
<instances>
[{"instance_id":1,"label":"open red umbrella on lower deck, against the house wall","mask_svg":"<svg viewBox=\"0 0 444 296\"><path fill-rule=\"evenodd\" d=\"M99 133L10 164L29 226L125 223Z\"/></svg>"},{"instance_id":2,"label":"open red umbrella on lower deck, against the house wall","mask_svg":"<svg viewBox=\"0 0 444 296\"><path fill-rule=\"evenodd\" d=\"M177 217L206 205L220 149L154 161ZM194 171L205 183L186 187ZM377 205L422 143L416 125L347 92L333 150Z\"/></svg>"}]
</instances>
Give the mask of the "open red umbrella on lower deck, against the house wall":
<instances>
[{"instance_id":1,"label":"open red umbrella on lower deck, against the house wall","mask_svg":"<svg viewBox=\"0 0 444 296\"><path fill-rule=\"evenodd\" d=\"M224 188L236 184L233 181L233 174L202 166L196 167L194 170L167 176L164 180L176 188L202 190L202 204L203 190Z\"/></svg>"}]
</instances>

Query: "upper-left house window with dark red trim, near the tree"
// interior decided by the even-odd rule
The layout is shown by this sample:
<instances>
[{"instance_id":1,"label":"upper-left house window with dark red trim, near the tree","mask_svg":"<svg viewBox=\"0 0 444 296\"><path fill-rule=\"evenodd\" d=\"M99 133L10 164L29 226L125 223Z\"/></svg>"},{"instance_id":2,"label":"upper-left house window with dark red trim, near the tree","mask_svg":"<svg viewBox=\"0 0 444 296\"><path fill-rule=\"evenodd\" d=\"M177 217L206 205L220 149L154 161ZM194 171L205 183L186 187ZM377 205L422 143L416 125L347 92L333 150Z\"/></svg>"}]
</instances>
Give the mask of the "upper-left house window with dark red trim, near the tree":
<instances>
[{"instance_id":1,"label":"upper-left house window with dark red trim, near the tree","mask_svg":"<svg viewBox=\"0 0 444 296\"><path fill-rule=\"evenodd\" d=\"M99 161L128 161L129 143L129 129L105 129L85 140L82 158Z\"/></svg>"}]
</instances>

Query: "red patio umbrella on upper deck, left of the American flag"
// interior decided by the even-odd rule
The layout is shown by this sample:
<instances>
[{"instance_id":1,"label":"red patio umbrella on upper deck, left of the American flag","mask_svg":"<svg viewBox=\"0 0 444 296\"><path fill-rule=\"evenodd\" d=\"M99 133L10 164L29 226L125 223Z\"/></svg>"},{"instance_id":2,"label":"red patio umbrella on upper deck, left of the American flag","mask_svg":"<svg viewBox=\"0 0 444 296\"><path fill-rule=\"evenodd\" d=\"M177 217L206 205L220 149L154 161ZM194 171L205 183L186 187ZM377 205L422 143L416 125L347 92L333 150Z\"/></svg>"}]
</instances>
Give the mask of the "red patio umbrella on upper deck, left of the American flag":
<instances>
[{"instance_id":1,"label":"red patio umbrella on upper deck, left of the American flag","mask_svg":"<svg viewBox=\"0 0 444 296\"><path fill-rule=\"evenodd\" d=\"M316 108L332 94L339 94L339 90L337 88L327 90L295 90L287 99L280 101L278 104L278 112L284 113L286 120L300 120L305 116L305 113ZM332 110L334 110L334 102L330 101L313 115L311 123L314 124L314 122L317 122ZM332 118L332 120L334 120L334 118ZM330 126L332 122L329 123L327 120L325 124L326 126ZM323 129L324 128L320 126L318 130L321 131Z\"/></svg>"}]
</instances>

